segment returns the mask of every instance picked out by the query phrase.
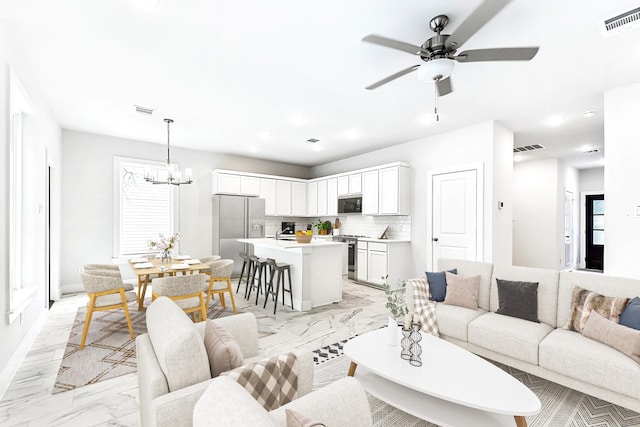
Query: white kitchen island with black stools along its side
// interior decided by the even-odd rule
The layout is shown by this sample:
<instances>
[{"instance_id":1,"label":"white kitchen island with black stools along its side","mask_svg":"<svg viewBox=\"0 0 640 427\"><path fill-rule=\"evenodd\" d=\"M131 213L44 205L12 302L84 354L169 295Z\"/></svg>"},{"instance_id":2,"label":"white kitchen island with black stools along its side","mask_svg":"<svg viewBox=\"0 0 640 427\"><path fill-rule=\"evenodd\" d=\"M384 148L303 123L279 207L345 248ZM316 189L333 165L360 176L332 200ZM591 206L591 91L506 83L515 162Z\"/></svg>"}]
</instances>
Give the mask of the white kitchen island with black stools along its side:
<instances>
[{"instance_id":1,"label":"white kitchen island with black stools along its side","mask_svg":"<svg viewBox=\"0 0 640 427\"><path fill-rule=\"evenodd\" d=\"M307 311L342 301L344 243L315 239L310 243L298 243L295 240L269 238L238 241L253 245L254 255L260 258L273 258L278 263L291 266L294 310ZM279 298L282 298L282 292ZM281 304L280 300L278 304ZM289 304L288 298L285 304Z\"/></svg>"}]
</instances>

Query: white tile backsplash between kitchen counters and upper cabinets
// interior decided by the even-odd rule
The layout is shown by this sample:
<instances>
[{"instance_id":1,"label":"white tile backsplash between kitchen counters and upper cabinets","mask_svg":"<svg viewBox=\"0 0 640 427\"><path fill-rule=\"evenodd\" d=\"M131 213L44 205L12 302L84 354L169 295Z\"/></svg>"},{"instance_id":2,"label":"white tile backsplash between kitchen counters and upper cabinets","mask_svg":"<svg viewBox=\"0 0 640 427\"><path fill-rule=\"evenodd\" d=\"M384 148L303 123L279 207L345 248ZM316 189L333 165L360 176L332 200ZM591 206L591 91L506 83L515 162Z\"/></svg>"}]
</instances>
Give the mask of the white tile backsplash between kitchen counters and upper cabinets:
<instances>
[{"instance_id":1,"label":"white tile backsplash between kitchen counters and upper cabinets","mask_svg":"<svg viewBox=\"0 0 640 427\"><path fill-rule=\"evenodd\" d=\"M340 218L340 234L355 234L359 236L378 237L386 225L389 226L389 239L411 239L411 216L368 216L368 215L340 215L321 217L322 220L335 223ZM318 218L267 217L265 234L274 236L282 221L295 221L296 230L306 230L307 224L313 224ZM316 232L315 228L313 229Z\"/></svg>"}]
</instances>

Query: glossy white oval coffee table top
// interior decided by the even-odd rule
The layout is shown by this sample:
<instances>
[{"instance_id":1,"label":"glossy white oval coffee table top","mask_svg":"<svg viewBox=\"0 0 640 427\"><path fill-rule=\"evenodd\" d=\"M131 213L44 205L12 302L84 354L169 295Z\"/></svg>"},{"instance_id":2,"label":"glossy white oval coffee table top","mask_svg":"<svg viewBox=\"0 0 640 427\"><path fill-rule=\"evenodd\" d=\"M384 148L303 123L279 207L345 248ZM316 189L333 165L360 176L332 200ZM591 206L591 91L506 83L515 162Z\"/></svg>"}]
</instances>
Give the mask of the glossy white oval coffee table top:
<instances>
[{"instance_id":1,"label":"glossy white oval coffee table top","mask_svg":"<svg viewBox=\"0 0 640 427\"><path fill-rule=\"evenodd\" d=\"M345 355L380 377L462 406L508 415L540 412L538 397L491 362L423 333L422 366L415 367L400 357L399 343L387 344L388 333L382 328L352 338L345 344ZM399 341L402 334L398 335Z\"/></svg>"}]
</instances>

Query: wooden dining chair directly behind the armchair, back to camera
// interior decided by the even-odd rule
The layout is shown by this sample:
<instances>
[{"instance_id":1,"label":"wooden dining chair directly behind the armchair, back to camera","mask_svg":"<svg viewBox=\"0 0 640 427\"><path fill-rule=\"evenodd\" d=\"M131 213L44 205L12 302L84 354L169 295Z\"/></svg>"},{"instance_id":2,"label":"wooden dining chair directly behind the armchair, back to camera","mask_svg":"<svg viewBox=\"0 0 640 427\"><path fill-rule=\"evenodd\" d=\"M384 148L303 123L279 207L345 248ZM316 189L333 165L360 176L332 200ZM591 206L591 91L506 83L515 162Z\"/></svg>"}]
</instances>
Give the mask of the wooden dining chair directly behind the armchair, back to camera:
<instances>
[{"instance_id":1,"label":"wooden dining chair directly behind the armchair, back to camera","mask_svg":"<svg viewBox=\"0 0 640 427\"><path fill-rule=\"evenodd\" d=\"M160 296L172 299L194 322L207 319L202 275L158 277L151 281L151 301Z\"/></svg>"}]
</instances>

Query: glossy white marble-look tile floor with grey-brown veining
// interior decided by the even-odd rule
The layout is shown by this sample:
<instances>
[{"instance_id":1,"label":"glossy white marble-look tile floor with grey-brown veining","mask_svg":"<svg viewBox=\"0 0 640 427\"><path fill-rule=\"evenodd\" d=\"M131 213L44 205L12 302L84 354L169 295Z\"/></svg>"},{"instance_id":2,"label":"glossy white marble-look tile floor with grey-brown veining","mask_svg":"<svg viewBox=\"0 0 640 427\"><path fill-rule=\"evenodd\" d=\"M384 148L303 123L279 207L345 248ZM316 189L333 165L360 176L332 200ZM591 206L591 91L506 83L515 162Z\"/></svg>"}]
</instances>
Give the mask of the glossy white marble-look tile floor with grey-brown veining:
<instances>
[{"instance_id":1,"label":"glossy white marble-look tile floor with grey-brown veining","mask_svg":"<svg viewBox=\"0 0 640 427\"><path fill-rule=\"evenodd\" d=\"M240 292L243 293L243 290ZM386 324L384 292L343 281L339 303L296 312L281 304L273 315L273 302L262 308L238 296L238 310L252 312L261 330L265 356L292 349L315 350ZM97 384L52 395L60 361L79 306L86 295L56 302L7 391L0 399L2 426L137 426L137 375L127 374Z\"/></svg>"}]
</instances>

